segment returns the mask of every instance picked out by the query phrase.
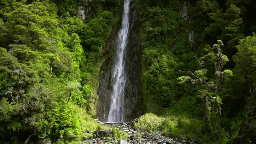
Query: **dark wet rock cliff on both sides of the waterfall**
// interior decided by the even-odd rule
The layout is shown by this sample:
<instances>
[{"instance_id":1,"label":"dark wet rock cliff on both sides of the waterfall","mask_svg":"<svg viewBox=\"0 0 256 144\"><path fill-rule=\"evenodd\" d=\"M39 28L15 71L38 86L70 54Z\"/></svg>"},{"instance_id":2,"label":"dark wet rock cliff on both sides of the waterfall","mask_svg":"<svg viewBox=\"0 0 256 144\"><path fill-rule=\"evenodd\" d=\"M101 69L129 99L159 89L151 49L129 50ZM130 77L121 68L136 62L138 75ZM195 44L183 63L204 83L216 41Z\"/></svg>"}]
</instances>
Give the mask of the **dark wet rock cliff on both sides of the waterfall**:
<instances>
[{"instance_id":1,"label":"dark wet rock cliff on both sides of the waterfall","mask_svg":"<svg viewBox=\"0 0 256 144\"><path fill-rule=\"evenodd\" d=\"M125 53L125 70L127 80L125 84L124 120L130 121L140 115L141 98L141 47L139 40L138 12L135 0L130 6L129 40ZM121 22L120 22L121 23ZM104 46L104 62L101 66L100 85L98 88L98 110L100 120L106 121L111 102L111 76L115 62L118 30L120 23L113 25L109 38Z\"/></svg>"}]
</instances>

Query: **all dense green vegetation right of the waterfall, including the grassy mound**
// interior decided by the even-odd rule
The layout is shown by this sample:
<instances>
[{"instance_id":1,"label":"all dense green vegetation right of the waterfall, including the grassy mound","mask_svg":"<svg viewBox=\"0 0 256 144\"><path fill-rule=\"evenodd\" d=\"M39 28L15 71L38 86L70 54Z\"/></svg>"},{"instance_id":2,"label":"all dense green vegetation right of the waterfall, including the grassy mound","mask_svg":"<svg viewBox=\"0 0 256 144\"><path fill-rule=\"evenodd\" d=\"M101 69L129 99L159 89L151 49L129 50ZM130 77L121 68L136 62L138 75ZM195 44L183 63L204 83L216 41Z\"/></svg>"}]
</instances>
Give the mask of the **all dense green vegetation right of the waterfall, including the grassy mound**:
<instances>
[{"instance_id":1,"label":"all dense green vegetation right of the waterfall, including the grassy mound","mask_svg":"<svg viewBox=\"0 0 256 144\"><path fill-rule=\"evenodd\" d=\"M144 106L164 118L155 123L146 114L137 129L201 143L255 143L255 6L138 0Z\"/></svg>"}]
</instances>

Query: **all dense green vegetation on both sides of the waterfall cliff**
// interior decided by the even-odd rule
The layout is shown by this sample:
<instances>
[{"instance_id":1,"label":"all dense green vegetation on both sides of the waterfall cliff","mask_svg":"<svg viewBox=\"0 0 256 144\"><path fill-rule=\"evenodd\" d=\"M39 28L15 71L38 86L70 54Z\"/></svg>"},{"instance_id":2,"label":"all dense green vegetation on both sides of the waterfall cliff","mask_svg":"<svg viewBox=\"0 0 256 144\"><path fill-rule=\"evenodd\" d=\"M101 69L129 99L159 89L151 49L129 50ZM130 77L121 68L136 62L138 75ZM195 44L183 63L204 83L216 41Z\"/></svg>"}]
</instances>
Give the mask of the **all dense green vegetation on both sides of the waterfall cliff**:
<instances>
[{"instance_id":1,"label":"all dense green vegetation on both sides of the waterfall cliff","mask_svg":"<svg viewBox=\"0 0 256 144\"><path fill-rule=\"evenodd\" d=\"M81 3L0 1L0 143L30 135L79 143L92 137L87 131L103 129L91 117L103 45L120 22L122 1L92 0L84 21L77 16ZM201 143L255 144L256 2L136 6L148 114L135 128Z\"/></svg>"}]
</instances>

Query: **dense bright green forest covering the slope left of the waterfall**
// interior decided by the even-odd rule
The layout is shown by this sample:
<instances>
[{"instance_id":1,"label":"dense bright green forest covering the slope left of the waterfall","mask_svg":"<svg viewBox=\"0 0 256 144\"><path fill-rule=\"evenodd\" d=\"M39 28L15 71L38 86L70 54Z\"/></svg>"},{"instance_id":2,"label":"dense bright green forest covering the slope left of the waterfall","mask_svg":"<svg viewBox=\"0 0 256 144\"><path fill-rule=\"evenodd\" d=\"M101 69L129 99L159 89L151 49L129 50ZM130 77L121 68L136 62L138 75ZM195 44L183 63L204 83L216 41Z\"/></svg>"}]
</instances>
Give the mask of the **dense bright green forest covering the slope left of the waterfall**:
<instances>
[{"instance_id":1,"label":"dense bright green forest covering the slope left of the waterfall","mask_svg":"<svg viewBox=\"0 0 256 144\"><path fill-rule=\"evenodd\" d=\"M101 129L89 114L113 13L98 3L83 22L78 2L54 2L0 2L0 140L65 142Z\"/></svg>"}]
</instances>

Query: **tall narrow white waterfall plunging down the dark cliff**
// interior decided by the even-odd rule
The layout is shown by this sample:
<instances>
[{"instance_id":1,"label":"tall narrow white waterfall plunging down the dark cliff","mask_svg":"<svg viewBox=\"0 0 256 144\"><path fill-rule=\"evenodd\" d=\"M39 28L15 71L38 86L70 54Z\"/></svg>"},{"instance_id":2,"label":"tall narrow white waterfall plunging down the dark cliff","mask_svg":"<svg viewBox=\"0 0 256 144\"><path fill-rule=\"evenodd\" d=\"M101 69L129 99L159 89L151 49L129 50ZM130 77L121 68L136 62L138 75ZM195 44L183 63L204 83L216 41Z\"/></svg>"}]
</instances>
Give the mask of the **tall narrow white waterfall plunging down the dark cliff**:
<instances>
[{"instance_id":1,"label":"tall narrow white waterfall plunging down the dark cliff","mask_svg":"<svg viewBox=\"0 0 256 144\"><path fill-rule=\"evenodd\" d=\"M123 122L124 117L124 88L126 82L125 48L128 42L129 4L130 0L124 0L122 27L118 32L115 68L111 78L112 94L108 122Z\"/></svg>"}]
</instances>

